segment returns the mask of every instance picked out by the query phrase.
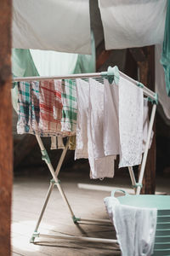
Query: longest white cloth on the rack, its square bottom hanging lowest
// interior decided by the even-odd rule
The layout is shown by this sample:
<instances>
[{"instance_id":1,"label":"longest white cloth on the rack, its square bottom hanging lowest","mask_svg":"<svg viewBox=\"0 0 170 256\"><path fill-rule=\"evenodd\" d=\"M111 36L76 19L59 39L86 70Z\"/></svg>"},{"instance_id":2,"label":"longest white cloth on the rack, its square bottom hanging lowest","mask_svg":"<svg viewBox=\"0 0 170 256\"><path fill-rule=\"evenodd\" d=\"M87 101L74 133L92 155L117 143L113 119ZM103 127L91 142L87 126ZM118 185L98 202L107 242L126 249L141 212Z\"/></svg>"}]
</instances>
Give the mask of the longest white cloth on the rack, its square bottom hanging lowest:
<instances>
[{"instance_id":1,"label":"longest white cloth on the rack, its square bottom hanging lowest","mask_svg":"<svg viewBox=\"0 0 170 256\"><path fill-rule=\"evenodd\" d=\"M89 79L88 160L91 178L113 177L115 155L104 153L104 85Z\"/></svg>"}]
</instances>

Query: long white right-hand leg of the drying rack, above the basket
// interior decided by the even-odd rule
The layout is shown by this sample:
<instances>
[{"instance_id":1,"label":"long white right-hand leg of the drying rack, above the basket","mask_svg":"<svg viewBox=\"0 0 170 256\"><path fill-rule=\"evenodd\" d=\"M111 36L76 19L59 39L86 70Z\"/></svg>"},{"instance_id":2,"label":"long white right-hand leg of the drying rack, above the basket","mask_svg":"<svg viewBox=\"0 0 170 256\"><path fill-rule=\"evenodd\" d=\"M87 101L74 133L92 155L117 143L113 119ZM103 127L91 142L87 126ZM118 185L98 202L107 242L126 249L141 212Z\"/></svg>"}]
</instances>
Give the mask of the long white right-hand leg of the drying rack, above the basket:
<instances>
[{"instance_id":1,"label":"long white right-hand leg of the drying rack, above the basket","mask_svg":"<svg viewBox=\"0 0 170 256\"><path fill-rule=\"evenodd\" d=\"M141 165L140 172L139 172L139 183L142 183L143 177L144 177L144 168L145 168L145 164L146 164L146 160L147 160L147 155L148 155L148 150L149 150L149 145L150 145L151 131L153 128L155 115L156 115L156 104L153 105L152 111L151 111L148 137L147 137L147 141L145 144L144 156L143 156L142 165ZM140 190L141 190L141 187L138 187L137 191L136 191L136 195L140 194Z\"/></svg>"}]
</instances>

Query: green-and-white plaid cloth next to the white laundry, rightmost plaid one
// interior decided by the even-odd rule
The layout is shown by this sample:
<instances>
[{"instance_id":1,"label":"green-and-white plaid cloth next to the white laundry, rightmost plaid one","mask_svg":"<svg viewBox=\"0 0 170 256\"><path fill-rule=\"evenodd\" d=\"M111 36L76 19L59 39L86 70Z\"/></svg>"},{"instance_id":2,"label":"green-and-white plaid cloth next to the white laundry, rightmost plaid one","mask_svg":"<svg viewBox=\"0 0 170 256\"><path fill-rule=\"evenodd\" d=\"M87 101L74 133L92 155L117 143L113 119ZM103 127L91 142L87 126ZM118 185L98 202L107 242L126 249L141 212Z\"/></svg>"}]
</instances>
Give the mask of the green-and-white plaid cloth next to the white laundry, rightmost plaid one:
<instances>
[{"instance_id":1,"label":"green-and-white plaid cloth next to the white laundry, rightmost plaid one","mask_svg":"<svg viewBox=\"0 0 170 256\"><path fill-rule=\"evenodd\" d=\"M62 82L61 101L63 104L61 131L77 131L77 90L76 83L70 79Z\"/></svg>"}]
</instances>

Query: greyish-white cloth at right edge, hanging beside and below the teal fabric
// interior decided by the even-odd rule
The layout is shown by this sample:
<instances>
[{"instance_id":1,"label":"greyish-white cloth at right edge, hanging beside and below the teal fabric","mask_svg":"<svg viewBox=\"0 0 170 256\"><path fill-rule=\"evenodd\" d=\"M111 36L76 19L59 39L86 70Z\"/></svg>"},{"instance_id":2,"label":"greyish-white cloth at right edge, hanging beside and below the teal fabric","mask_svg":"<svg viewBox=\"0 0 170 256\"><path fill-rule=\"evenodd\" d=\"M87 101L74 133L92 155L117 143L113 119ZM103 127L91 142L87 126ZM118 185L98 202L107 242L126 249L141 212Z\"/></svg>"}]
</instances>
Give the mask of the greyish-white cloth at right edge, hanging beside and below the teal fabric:
<instances>
[{"instance_id":1,"label":"greyish-white cloth at right edge, hanging beside and below the teal fabric","mask_svg":"<svg viewBox=\"0 0 170 256\"><path fill-rule=\"evenodd\" d=\"M156 45L156 50L155 50L156 92L158 93L159 102L161 103L161 106L163 108L163 111L167 119L170 119L170 97L167 96L166 84L165 84L165 73L160 63L161 48L162 48L161 45Z\"/></svg>"}]
</instances>

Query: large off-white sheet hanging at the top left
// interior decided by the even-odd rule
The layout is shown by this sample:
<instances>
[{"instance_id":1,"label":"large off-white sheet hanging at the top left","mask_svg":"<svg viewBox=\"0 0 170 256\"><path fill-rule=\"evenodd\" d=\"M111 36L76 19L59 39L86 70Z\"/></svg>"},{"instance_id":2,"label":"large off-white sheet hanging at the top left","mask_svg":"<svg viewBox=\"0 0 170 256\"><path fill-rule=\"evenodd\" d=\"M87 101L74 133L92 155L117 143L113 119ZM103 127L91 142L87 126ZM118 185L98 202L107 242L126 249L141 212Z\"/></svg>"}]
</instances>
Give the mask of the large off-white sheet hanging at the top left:
<instances>
[{"instance_id":1,"label":"large off-white sheet hanging at the top left","mask_svg":"<svg viewBox=\"0 0 170 256\"><path fill-rule=\"evenodd\" d=\"M89 0L14 0L13 47L91 53Z\"/></svg>"}]
</instances>

